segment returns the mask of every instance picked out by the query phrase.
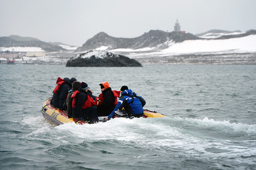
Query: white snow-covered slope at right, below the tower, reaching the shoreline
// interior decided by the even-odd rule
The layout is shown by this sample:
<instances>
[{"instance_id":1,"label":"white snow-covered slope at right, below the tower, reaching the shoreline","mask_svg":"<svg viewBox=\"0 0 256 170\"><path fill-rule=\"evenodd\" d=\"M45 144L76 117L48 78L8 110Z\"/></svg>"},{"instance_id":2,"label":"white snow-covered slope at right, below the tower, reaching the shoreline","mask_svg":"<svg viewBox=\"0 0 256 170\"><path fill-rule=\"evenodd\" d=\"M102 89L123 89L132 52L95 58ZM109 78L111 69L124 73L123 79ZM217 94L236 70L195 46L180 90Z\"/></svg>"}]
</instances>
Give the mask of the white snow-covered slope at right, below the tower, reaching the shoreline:
<instances>
[{"instance_id":1,"label":"white snow-covered slope at right, below the tower, reaching the shoreline","mask_svg":"<svg viewBox=\"0 0 256 170\"><path fill-rule=\"evenodd\" d=\"M235 34L233 34L235 35ZM256 35L230 39L198 39L175 43L168 48L114 49L111 52L142 64L256 64Z\"/></svg>"}]
</instances>

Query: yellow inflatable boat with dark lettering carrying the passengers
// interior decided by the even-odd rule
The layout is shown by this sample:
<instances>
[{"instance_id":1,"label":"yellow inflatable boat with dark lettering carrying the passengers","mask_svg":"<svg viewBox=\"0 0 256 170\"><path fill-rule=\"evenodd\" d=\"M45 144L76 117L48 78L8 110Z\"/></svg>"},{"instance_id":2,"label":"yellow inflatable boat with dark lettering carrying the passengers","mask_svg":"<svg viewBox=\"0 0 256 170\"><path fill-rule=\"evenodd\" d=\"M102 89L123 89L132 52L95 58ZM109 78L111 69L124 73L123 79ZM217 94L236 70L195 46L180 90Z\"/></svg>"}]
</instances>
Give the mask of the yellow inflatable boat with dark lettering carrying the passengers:
<instances>
[{"instance_id":1,"label":"yellow inflatable boat with dark lettering carrying the passengers","mask_svg":"<svg viewBox=\"0 0 256 170\"><path fill-rule=\"evenodd\" d=\"M58 108L53 107L50 104L52 98L48 98L44 103L43 103L43 108L42 108L42 114L43 117L49 121L50 123L54 125L62 125L64 123L68 122L75 122L76 124L82 125L87 122L81 121L79 119L74 119L74 118L68 118L68 113L66 111L60 110ZM107 116L105 116L107 117ZM105 117L99 117L99 120L104 120ZM115 112L115 117L127 117L125 112L121 111L116 111ZM157 113L155 111L150 111L150 110L144 110L144 118L148 117L166 117L163 114Z\"/></svg>"}]
</instances>

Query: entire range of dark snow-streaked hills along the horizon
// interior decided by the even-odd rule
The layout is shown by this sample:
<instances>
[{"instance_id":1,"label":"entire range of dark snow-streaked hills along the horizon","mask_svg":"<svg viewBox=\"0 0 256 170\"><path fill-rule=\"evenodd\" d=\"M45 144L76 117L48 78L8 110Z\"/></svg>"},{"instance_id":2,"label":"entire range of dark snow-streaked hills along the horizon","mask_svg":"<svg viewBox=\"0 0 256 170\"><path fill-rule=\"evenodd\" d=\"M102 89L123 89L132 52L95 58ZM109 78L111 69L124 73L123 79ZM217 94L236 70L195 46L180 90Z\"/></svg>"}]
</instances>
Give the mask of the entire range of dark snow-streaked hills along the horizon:
<instances>
[{"instance_id":1,"label":"entire range of dark snow-streaked hills along the horizon","mask_svg":"<svg viewBox=\"0 0 256 170\"><path fill-rule=\"evenodd\" d=\"M88 39L82 47L65 45L61 42L43 42L39 39L31 37L21 37L12 35L9 37L0 37L0 47L39 47L44 51L89 51L89 50L114 50L114 49L141 49L145 51L160 51L170 48L173 44L184 42L185 40L198 39L232 39L255 35L256 30L247 32L225 31L225 30L210 30L205 33L196 34L182 32L165 32L161 30L151 30L136 38L116 38L101 32Z\"/></svg>"}]
</instances>

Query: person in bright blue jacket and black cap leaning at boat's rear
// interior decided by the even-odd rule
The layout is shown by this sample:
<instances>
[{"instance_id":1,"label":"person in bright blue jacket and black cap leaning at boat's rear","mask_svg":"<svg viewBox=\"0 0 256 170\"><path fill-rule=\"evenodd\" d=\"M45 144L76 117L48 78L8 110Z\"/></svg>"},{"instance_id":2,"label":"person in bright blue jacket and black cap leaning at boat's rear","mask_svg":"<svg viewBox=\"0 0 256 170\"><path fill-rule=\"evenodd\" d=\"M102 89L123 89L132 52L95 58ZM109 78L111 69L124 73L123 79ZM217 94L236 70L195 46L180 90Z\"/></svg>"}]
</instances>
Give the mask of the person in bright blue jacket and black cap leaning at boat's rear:
<instances>
[{"instance_id":1,"label":"person in bright blue jacket and black cap leaning at boat's rear","mask_svg":"<svg viewBox=\"0 0 256 170\"><path fill-rule=\"evenodd\" d=\"M114 112L117 110L122 110L123 108L129 117L144 116L144 110L143 110L142 102L141 102L141 100L143 98L140 95L134 93L132 89L128 89L127 86L122 86L120 89L120 92L122 92L122 93L121 93L120 99L117 102L117 106L111 112L111 114L107 118L105 118L105 120L114 118ZM139 98L141 98L141 100ZM144 106L146 104L146 101L144 99L142 101L143 101L143 106Z\"/></svg>"}]
</instances>

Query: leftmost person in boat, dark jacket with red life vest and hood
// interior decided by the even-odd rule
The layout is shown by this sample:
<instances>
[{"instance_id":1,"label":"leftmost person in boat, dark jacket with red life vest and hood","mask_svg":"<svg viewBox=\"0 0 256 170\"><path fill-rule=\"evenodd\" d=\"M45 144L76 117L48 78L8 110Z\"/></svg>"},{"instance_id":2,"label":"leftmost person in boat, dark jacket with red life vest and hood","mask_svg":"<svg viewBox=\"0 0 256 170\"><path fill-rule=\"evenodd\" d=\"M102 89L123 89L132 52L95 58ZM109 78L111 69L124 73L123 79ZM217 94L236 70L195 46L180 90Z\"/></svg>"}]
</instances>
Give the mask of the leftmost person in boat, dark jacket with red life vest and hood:
<instances>
[{"instance_id":1,"label":"leftmost person in boat, dark jacket with red life vest and hood","mask_svg":"<svg viewBox=\"0 0 256 170\"><path fill-rule=\"evenodd\" d=\"M59 108L60 110L63 110L63 103L65 102L65 99L68 95L68 89L72 87L72 83L76 81L76 78L71 78L71 81L69 78L58 78L56 81L57 86L53 90L52 100L51 104L53 107Z\"/></svg>"}]
</instances>

